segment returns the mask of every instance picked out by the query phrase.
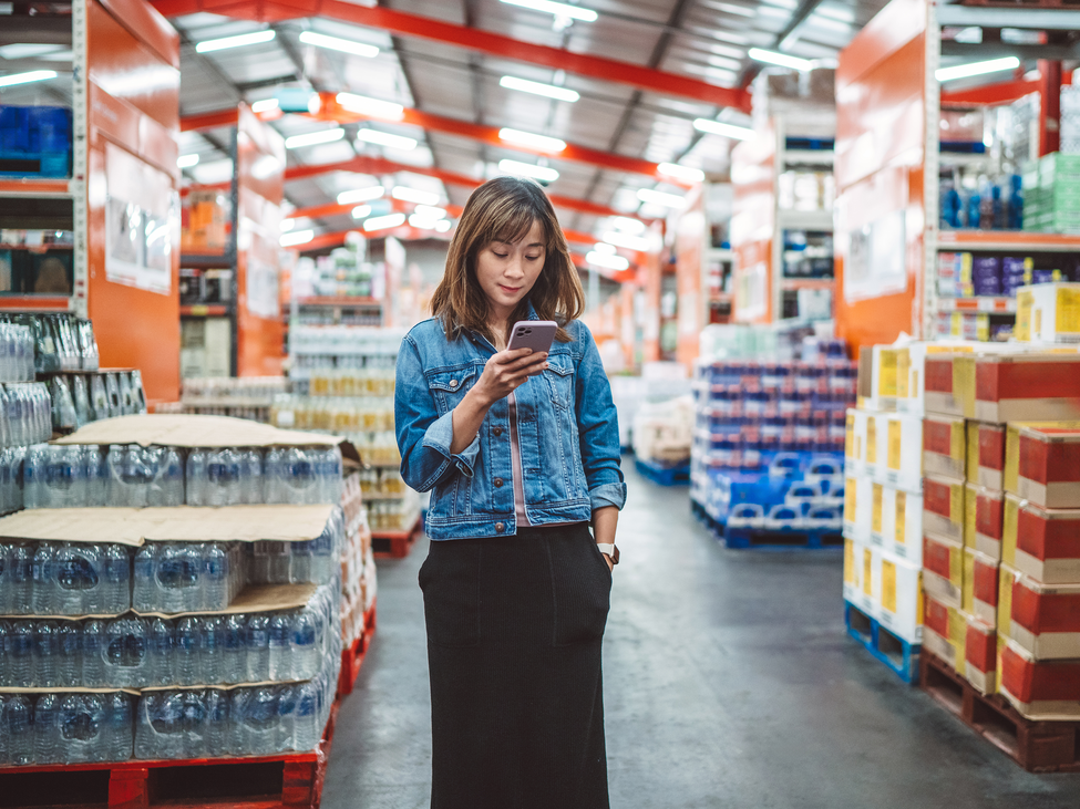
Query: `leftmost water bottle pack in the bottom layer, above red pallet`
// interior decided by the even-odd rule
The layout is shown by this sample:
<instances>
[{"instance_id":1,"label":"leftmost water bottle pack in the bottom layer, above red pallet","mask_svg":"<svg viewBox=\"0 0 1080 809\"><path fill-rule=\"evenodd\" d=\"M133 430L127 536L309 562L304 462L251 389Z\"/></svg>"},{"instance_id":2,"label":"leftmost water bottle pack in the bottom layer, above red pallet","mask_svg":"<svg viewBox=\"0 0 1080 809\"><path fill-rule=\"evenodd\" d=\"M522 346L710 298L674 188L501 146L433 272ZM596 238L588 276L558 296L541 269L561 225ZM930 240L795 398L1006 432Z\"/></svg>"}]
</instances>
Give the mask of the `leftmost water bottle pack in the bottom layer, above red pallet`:
<instances>
[{"instance_id":1,"label":"leftmost water bottle pack in the bottom layer, above red pallet","mask_svg":"<svg viewBox=\"0 0 1080 809\"><path fill-rule=\"evenodd\" d=\"M126 761L137 697L0 694L0 766Z\"/></svg>"}]
</instances>

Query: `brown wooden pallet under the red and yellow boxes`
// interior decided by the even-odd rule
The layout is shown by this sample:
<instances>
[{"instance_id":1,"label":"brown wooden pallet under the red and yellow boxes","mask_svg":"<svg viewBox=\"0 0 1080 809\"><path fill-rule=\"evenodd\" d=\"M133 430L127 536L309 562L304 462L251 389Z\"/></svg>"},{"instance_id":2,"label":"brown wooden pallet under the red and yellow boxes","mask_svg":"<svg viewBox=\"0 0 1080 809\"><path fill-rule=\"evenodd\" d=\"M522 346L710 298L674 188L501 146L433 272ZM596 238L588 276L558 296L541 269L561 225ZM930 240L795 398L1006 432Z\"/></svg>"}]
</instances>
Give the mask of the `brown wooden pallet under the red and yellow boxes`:
<instances>
[{"instance_id":1,"label":"brown wooden pallet under the red and yellow boxes","mask_svg":"<svg viewBox=\"0 0 1080 809\"><path fill-rule=\"evenodd\" d=\"M923 691L1030 772L1080 772L1080 722L1033 722L1000 694L979 694L945 661L923 652Z\"/></svg>"}]
</instances>

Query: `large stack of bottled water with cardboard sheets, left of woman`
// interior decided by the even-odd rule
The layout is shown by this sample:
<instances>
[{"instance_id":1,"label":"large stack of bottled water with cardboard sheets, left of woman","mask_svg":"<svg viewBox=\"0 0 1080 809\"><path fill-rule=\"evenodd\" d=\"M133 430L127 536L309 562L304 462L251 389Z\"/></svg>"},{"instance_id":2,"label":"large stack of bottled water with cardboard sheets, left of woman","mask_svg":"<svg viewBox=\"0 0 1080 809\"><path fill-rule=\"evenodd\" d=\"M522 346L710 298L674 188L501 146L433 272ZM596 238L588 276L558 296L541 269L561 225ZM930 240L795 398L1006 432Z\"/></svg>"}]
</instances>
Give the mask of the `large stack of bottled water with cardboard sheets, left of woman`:
<instances>
[{"instance_id":1,"label":"large stack of bottled water with cardboard sheets, left of woman","mask_svg":"<svg viewBox=\"0 0 1080 809\"><path fill-rule=\"evenodd\" d=\"M28 509L0 523L14 538L0 544L0 764L317 748L357 632L343 571L353 593L368 574L342 449L359 460L333 438L209 416L115 418L31 447Z\"/></svg>"}]
</instances>

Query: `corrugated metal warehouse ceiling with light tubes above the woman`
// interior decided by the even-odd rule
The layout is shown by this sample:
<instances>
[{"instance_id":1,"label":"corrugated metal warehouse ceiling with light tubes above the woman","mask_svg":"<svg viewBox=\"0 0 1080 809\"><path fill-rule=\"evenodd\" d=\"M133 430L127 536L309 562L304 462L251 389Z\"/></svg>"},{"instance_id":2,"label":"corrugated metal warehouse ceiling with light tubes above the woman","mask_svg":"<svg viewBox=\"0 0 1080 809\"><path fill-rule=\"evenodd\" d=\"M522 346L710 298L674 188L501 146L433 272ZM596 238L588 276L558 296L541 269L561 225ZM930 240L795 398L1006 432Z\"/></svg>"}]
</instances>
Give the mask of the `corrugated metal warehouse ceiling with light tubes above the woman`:
<instances>
[{"instance_id":1,"label":"corrugated metal warehouse ceiling with light tubes above the woman","mask_svg":"<svg viewBox=\"0 0 1080 809\"><path fill-rule=\"evenodd\" d=\"M532 4L531 0L513 0L523 1ZM750 49L781 50L819 64L834 64L839 51L884 4L884 0L587 0L578 6L595 11L595 21L574 20L501 0L383 0L379 8L451 23L454 30L466 34L470 30L501 34L738 91L748 86L763 66L749 58ZM167 7L163 8L168 12ZM605 158L604 165L565 159L557 154L538 157L497 139L462 136L451 132L453 126L371 122L346 125L344 137L336 142L289 149L290 166L335 164L370 155L415 166L421 172L436 169L434 174L449 172L481 181L503 173L501 160L518 160L555 169L558 176L548 184L548 191L556 197L652 218L664 216L667 209L641 203L639 189L682 193L685 187L664 181L655 174L624 170L619 157L679 164L722 178L728 173L732 142L702 134L693 121L749 123L744 110L616 83L610 76L555 70L535 63L528 53L523 53L522 59L507 59L490 52L479 40L476 45L464 48L318 17L261 23L197 12L172 17L172 22L183 43L183 116L226 110L239 101L265 102L288 87L329 94L348 92L397 102L441 116L440 120L512 127L615 156ZM275 34L267 42L196 51L199 42L266 30ZM302 42L305 32L373 45L378 53L357 55L310 44L310 35L305 37L309 42ZM578 97L573 102L556 100L503 86L514 84L514 80L573 91ZM726 97L737 97L737 93L729 92ZM286 137L335 127L301 115L285 115L272 121L271 126ZM405 136L416 146L403 149L398 142L383 145L358 141L357 133L362 128ZM185 132L181 153L198 155L198 163L186 168L185 176L198 183L226 179L230 172L229 136L226 127ZM385 139L379 134L366 136ZM366 177L328 172L289 181L286 197L290 205L304 209L333 203L343 190L389 181L432 191L451 205L464 205L471 191L467 185L444 184L431 174L401 170L394 177ZM592 232L598 217L580 208L562 208L560 220L567 229ZM341 212L321 215L311 221L298 220L295 226L319 234L354 227L356 222L348 212Z\"/></svg>"}]
</instances>

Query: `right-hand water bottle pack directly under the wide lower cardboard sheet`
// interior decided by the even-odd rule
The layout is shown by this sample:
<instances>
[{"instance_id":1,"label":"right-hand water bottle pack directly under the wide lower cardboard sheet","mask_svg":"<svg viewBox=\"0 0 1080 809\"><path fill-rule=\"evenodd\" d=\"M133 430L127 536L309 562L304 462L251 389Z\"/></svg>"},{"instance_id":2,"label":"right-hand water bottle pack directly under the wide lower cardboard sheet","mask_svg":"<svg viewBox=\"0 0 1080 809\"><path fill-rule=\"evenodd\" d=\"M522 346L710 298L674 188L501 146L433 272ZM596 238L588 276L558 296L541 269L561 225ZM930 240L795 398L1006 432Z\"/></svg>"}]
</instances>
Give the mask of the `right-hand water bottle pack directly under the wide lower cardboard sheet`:
<instances>
[{"instance_id":1,"label":"right-hand water bottle pack directly under the wide lower cardboard sheet","mask_svg":"<svg viewBox=\"0 0 1080 809\"><path fill-rule=\"evenodd\" d=\"M147 542L135 553L132 605L140 612L225 610L244 589L239 542Z\"/></svg>"}]
</instances>

